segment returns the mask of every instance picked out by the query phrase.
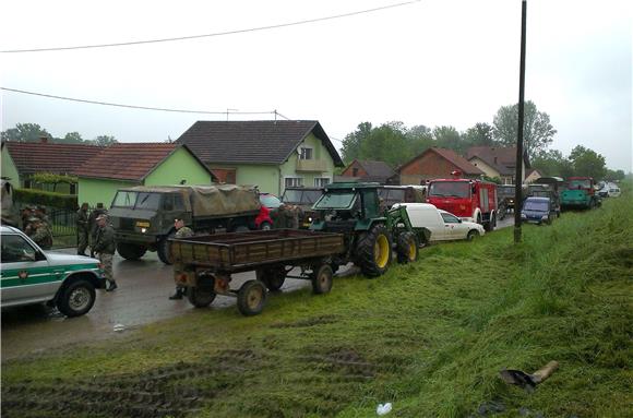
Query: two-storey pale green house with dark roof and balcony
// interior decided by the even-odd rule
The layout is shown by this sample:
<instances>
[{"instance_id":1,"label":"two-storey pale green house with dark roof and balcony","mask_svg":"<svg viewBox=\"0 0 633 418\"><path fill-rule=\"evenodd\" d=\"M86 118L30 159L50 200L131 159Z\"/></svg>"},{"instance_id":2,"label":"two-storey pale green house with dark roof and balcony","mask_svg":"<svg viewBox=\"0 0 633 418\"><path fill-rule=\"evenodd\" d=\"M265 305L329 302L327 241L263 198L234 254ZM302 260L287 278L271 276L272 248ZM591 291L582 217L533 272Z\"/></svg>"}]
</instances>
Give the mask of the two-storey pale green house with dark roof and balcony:
<instances>
[{"instance_id":1,"label":"two-storey pale green house with dark roof and balcony","mask_svg":"<svg viewBox=\"0 0 633 418\"><path fill-rule=\"evenodd\" d=\"M199 121L177 143L187 144L219 181L277 195L286 187L323 187L344 166L318 121Z\"/></svg>"}]
</instances>

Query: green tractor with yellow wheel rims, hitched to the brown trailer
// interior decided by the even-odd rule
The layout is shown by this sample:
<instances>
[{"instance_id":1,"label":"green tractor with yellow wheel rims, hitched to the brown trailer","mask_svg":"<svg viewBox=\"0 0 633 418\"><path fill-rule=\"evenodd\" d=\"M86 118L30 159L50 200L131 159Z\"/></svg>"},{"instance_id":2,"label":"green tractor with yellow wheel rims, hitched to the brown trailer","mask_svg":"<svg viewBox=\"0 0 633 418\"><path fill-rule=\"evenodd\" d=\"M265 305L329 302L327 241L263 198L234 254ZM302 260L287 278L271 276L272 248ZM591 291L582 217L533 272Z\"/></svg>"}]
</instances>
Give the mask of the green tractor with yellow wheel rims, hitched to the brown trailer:
<instances>
[{"instance_id":1,"label":"green tractor with yellow wheel rims, hitched to the brown trailer","mask_svg":"<svg viewBox=\"0 0 633 418\"><path fill-rule=\"evenodd\" d=\"M418 259L420 246L428 243L431 232L411 227L406 208L385 210L380 202L378 183L332 183L312 208L319 220L311 230L342 234L345 254L335 265L354 262L363 275L377 277L389 270L392 251L397 260L408 263Z\"/></svg>"}]
</instances>

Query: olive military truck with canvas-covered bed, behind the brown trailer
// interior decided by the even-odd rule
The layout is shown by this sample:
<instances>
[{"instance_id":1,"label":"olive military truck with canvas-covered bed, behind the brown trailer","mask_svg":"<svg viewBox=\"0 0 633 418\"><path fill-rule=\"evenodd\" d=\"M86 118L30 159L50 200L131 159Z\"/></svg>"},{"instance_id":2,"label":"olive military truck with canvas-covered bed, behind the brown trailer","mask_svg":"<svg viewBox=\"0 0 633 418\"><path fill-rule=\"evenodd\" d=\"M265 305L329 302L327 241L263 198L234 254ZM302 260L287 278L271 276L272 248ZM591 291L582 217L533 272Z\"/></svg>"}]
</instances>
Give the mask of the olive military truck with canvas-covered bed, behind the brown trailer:
<instances>
[{"instance_id":1,"label":"olive military truck with canvas-covered bed, behind the brown trailer","mask_svg":"<svg viewBox=\"0 0 633 418\"><path fill-rule=\"evenodd\" d=\"M194 234L243 232L272 224L262 210L256 188L223 186L138 186L119 189L109 210L117 251L138 260L156 251L171 264L174 219L183 219Z\"/></svg>"}]
</instances>

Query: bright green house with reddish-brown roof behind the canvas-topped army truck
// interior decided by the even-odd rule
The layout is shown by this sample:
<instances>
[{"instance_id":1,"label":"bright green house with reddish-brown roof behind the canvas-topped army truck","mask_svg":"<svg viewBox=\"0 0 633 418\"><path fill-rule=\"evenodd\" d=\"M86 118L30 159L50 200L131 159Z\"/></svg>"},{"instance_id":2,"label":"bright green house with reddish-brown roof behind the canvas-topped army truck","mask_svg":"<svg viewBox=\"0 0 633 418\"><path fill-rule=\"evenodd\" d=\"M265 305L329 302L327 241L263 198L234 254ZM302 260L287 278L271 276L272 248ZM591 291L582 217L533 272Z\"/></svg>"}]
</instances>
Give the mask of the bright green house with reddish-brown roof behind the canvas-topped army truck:
<instances>
[{"instance_id":1,"label":"bright green house with reddish-brown roof behind the canvas-topped army truck","mask_svg":"<svg viewBox=\"0 0 633 418\"><path fill-rule=\"evenodd\" d=\"M75 168L79 203L109 207L117 190L134 186L208 186L213 172L187 145L176 143L117 143Z\"/></svg>"}]
</instances>

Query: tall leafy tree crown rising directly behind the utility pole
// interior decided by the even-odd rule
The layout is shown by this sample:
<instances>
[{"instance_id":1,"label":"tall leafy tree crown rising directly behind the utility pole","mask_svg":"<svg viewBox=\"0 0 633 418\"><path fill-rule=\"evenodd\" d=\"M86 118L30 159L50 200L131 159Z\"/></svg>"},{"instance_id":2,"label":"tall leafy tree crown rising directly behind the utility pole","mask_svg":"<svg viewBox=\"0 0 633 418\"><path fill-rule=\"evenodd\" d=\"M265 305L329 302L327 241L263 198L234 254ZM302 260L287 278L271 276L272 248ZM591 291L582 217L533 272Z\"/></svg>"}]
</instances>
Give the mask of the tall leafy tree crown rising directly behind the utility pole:
<instances>
[{"instance_id":1,"label":"tall leafy tree crown rising directly behind the utility pole","mask_svg":"<svg viewBox=\"0 0 633 418\"><path fill-rule=\"evenodd\" d=\"M494 116L494 139L506 146L516 146L518 130L518 104L502 106ZM538 152L545 151L552 143L557 133L549 121L549 115L538 111L536 105L525 103L525 124L523 129L523 148L532 160Z\"/></svg>"}]
</instances>

